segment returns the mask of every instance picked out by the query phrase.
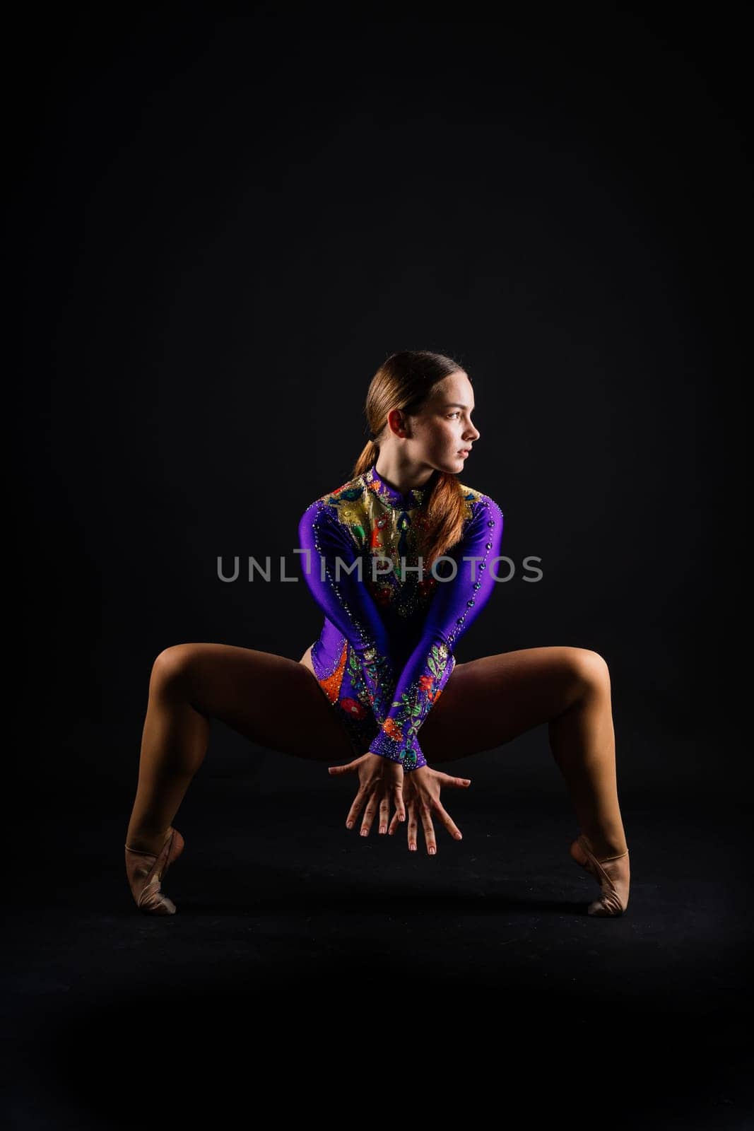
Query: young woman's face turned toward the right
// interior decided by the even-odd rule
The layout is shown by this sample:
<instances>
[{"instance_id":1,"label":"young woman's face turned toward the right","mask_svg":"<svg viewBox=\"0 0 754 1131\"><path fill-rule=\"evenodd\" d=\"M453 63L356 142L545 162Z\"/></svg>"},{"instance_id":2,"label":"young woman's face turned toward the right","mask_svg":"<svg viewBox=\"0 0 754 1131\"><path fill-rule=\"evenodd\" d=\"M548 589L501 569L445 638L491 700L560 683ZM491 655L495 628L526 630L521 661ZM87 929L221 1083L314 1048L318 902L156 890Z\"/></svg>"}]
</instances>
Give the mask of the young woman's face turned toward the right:
<instances>
[{"instance_id":1,"label":"young woman's face turned toward the right","mask_svg":"<svg viewBox=\"0 0 754 1131\"><path fill-rule=\"evenodd\" d=\"M459 370L444 378L418 416L408 417L413 458L441 472L462 470L468 458L463 449L479 439L471 423L475 407L474 387L466 373Z\"/></svg>"}]
</instances>

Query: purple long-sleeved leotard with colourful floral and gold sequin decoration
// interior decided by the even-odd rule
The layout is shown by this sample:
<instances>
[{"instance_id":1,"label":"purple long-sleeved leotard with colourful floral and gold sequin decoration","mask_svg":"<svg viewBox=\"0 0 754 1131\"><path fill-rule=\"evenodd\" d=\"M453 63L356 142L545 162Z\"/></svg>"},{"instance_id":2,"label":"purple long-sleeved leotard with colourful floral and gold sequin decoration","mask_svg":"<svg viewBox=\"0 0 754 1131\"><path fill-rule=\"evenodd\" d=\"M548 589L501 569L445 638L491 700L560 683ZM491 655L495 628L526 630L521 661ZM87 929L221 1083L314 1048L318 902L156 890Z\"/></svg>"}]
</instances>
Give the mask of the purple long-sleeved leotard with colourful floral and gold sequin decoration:
<instances>
[{"instance_id":1,"label":"purple long-sleeved leotard with colourful floral and gold sequin decoration","mask_svg":"<svg viewBox=\"0 0 754 1131\"><path fill-rule=\"evenodd\" d=\"M460 541L434 570L423 560L421 577L423 504L435 480L401 493L373 465L315 499L298 524L302 571L324 612L311 651L319 684L356 756L369 750L405 770L426 766L418 731L489 598L503 534L497 503L459 484Z\"/></svg>"}]
</instances>

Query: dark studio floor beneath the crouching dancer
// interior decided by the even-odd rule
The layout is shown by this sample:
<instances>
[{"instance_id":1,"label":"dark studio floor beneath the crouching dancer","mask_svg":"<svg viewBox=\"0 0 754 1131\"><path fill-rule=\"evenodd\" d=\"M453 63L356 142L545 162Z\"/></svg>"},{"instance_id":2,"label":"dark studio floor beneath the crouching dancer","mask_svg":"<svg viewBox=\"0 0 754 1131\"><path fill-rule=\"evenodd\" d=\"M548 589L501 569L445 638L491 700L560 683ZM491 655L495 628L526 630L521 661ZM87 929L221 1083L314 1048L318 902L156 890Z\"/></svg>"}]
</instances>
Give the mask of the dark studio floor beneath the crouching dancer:
<instances>
[{"instance_id":1,"label":"dark studio floor beneath the crouching dancer","mask_svg":"<svg viewBox=\"0 0 754 1131\"><path fill-rule=\"evenodd\" d=\"M754 1126L743 800L624 789L631 903L597 920L555 783L448 791L465 838L441 830L436 857L347 832L332 785L198 776L167 918L131 901L128 806L47 821L6 888L6 1125L165 1125L206 1103L248 1121L271 1099L286 1121L392 1123L398 1097L417 1131L456 1108Z\"/></svg>"}]
</instances>

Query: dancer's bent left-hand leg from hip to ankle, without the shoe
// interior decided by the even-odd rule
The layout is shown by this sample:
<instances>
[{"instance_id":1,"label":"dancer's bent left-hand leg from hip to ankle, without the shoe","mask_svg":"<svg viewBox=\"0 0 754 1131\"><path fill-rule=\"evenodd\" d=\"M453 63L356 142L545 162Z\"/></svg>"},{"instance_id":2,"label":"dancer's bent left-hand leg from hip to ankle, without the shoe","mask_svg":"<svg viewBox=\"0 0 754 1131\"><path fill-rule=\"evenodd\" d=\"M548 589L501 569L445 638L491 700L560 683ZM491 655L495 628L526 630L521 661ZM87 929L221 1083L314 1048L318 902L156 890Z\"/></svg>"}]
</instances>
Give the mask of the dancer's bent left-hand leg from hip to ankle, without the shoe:
<instances>
[{"instance_id":1,"label":"dancer's bent left-hand leg from hip to ankle, without the shoe","mask_svg":"<svg viewBox=\"0 0 754 1131\"><path fill-rule=\"evenodd\" d=\"M125 843L158 853L207 752L209 719L300 758L353 758L348 739L303 663L219 644L174 645L153 666L139 779Z\"/></svg>"}]
</instances>

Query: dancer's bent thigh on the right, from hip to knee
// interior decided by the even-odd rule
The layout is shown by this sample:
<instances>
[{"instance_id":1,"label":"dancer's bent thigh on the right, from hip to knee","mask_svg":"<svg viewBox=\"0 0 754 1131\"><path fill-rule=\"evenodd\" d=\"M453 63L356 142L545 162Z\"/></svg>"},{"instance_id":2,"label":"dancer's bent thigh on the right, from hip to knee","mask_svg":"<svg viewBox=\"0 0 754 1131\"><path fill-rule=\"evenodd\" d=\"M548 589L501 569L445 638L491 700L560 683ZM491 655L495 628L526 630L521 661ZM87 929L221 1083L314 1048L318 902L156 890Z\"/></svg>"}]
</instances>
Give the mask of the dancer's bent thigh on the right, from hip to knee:
<instances>
[{"instance_id":1,"label":"dancer's bent thigh on the right, from hip to knee","mask_svg":"<svg viewBox=\"0 0 754 1131\"><path fill-rule=\"evenodd\" d=\"M501 746L552 722L587 687L607 679L598 653L565 646L457 664L418 732L424 756L433 765Z\"/></svg>"}]
</instances>

